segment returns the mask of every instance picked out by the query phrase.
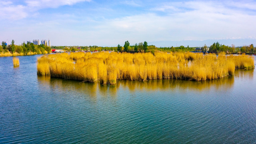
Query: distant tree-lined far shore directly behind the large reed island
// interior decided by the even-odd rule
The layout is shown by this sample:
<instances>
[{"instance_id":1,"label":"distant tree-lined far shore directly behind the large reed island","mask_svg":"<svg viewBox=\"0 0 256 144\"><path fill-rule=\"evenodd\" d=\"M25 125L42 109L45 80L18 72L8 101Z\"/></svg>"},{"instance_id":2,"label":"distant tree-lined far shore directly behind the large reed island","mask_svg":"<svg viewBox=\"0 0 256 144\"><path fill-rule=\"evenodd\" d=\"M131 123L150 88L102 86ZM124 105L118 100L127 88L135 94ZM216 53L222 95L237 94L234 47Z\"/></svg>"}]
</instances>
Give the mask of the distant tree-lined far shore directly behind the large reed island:
<instances>
[{"instance_id":1,"label":"distant tree-lined far shore directly behind the large reed island","mask_svg":"<svg viewBox=\"0 0 256 144\"><path fill-rule=\"evenodd\" d=\"M115 51L115 52L209 52L218 54L220 52L225 52L226 54L256 54L256 47L251 44L250 46L231 46L222 45L219 42L214 42L211 46L170 46L170 47L156 47L154 45L149 45L148 42L139 42L138 44L130 45L130 42L125 41L124 46L122 44L118 44L116 47L101 47L101 46L52 46L53 49L63 49L66 51Z\"/></svg>"}]
</instances>

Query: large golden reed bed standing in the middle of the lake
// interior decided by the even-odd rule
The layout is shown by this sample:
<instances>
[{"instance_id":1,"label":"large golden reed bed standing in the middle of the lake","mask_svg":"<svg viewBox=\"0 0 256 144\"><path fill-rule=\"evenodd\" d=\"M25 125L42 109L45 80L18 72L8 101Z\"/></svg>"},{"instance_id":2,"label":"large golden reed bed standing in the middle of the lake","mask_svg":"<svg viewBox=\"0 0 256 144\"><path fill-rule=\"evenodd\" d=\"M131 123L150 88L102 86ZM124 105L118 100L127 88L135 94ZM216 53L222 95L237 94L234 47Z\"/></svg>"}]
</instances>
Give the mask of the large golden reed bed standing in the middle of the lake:
<instances>
[{"instance_id":1,"label":"large golden reed bed standing in the middle of the lake","mask_svg":"<svg viewBox=\"0 0 256 144\"><path fill-rule=\"evenodd\" d=\"M191 53L117 53L44 55L38 59L38 74L102 84L116 80L212 80L234 75L235 69L254 68L252 56Z\"/></svg>"}]
</instances>

